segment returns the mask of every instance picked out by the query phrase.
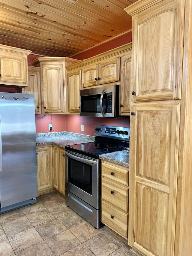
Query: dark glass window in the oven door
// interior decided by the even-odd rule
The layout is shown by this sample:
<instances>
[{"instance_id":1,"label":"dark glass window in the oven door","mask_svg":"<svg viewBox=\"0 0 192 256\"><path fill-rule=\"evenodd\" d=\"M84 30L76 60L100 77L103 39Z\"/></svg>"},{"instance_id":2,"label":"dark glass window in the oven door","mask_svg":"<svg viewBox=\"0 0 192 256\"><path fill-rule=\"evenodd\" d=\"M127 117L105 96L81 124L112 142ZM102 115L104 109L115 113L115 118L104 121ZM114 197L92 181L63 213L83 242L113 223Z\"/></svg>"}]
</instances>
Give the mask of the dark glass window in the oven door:
<instances>
[{"instance_id":1,"label":"dark glass window in the oven door","mask_svg":"<svg viewBox=\"0 0 192 256\"><path fill-rule=\"evenodd\" d=\"M92 166L68 158L68 182L92 195Z\"/></svg>"}]
</instances>

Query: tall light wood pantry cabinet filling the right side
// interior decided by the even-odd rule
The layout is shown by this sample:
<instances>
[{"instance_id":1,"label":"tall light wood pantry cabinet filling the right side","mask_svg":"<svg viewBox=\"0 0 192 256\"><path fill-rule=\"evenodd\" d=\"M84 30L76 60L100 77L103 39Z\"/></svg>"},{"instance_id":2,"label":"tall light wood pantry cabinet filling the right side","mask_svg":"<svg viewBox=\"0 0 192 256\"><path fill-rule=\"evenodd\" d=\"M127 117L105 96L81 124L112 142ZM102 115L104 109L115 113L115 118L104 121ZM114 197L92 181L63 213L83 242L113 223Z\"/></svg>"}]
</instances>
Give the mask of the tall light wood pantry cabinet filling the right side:
<instances>
[{"instance_id":1,"label":"tall light wood pantry cabinet filling the right side","mask_svg":"<svg viewBox=\"0 0 192 256\"><path fill-rule=\"evenodd\" d=\"M191 9L191 0L125 8L133 20L128 239L138 255L192 250Z\"/></svg>"}]
</instances>

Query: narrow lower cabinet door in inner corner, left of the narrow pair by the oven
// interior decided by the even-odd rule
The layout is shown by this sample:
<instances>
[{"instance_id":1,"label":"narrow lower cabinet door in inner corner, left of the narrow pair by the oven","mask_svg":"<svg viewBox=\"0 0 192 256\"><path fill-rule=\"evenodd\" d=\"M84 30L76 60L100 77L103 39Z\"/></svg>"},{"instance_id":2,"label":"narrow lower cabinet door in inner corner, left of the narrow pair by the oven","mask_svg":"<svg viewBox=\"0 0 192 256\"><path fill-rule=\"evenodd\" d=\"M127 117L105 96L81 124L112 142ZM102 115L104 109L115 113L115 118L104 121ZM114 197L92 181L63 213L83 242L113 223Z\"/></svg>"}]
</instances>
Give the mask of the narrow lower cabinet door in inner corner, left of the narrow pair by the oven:
<instances>
[{"instance_id":1,"label":"narrow lower cabinet door in inner corner, left of the narrow pair by the oven","mask_svg":"<svg viewBox=\"0 0 192 256\"><path fill-rule=\"evenodd\" d=\"M59 148L52 147L52 173L53 173L53 188L59 191L60 172L59 172Z\"/></svg>"}]
</instances>

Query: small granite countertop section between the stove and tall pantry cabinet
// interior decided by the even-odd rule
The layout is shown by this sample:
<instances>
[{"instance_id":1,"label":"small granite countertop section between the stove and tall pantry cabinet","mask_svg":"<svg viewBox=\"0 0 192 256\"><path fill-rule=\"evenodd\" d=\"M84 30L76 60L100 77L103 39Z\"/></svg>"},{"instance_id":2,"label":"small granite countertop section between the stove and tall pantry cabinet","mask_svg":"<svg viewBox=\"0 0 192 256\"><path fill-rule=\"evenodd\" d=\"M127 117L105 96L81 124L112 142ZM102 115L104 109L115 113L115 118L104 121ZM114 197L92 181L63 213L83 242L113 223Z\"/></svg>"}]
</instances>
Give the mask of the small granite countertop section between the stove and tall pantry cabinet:
<instances>
[{"instance_id":1,"label":"small granite countertop section between the stove and tall pantry cabinet","mask_svg":"<svg viewBox=\"0 0 192 256\"><path fill-rule=\"evenodd\" d=\"M99 158L129 168L129 149L103 154Z\"/></svg>"}]
</instances>

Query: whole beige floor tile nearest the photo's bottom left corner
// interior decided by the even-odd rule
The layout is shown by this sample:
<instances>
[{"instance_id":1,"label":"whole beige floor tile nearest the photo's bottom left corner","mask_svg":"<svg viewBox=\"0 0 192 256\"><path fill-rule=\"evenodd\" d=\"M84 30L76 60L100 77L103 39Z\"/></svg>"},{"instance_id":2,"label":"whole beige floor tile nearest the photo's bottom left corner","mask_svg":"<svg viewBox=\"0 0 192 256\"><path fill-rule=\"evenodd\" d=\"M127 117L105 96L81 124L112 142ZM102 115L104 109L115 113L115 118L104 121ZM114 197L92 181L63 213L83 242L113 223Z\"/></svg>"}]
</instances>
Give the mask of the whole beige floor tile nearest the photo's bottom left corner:
<instances>
[{"instance_id":1,"label":"whole beige floor tile nearest the photo's bottom left corner","mask_svg":"<svg viewBox=\"0 0 192 256\"><path fill-rule=\"evenodd\" d=\"M15 252L22 251L42 240L35 227L9 237L10 244Z\"/></svg>"}]
</instances>

